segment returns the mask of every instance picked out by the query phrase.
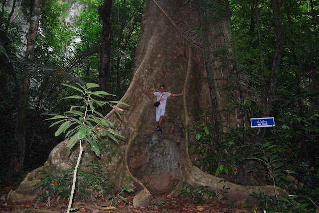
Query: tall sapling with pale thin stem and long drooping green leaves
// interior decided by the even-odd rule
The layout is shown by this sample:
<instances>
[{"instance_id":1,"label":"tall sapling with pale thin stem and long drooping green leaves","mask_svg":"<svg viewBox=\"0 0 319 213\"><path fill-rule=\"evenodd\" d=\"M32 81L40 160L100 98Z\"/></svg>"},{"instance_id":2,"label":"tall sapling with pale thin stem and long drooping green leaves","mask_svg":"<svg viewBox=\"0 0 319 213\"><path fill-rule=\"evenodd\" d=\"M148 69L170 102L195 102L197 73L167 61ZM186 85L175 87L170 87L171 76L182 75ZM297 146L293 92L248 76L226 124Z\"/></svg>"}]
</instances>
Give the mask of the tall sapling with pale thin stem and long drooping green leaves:
<instances>
[{"instance_id":1,"label":"tall sapling with pale thin stem and long drooping green leaves","mask_svg":"<svg viewBox=\"0 0 319 213\"><path fill-rule=\"evenodd\" d=\"M73 95L66 97L64 99L79 99L83 101L84 106L71 106L71 109L69 111L64 112L64 115L59 114L49 114L53 115L53 117L48 118L46 120L58 120L50 125L54 126L57 124L60 124L60 127L56 130L54 133L55 136L60 135L61 133L66 133L65 138L69 138L67 147L69 147L68 151L72 149L72 147L79 141L79 156L78 160L76 162L76 166L74 168L74 174L73 174L73 182L72 182L72 189L70 194L70 201L67 213L70 212L74 190L75 190L75 184L76 184L76 176L77 176L77 169L80 164L82 152L83 152L83 146L82 142L84 140L88 141L92 150L95 152L97 156L100 156L100 149L98 147L98 139L100 136L107 135L111 139L113 139L115 142L118 142L116 139L116 136L123 137L119 133L117 133L115 130L111 128L114 124L105 119L104 116L98 112L95 108L95 106L104 106L106 104L109 104L112 106L113 103L115 104L122 104L126 105L125 103L121 102L103 102L98 101L95 98L101 97L102 95L111 95L104 91L95 91L92 92L90 89L99 87L98 84L88 83L85 86L79 85L79 87L75 87L72 85L62 84L66 87L70 87L77 92L80 92L80 95ZM118 106L112 106L117 111L122 111L123 109L119 108ZM99 125L101 128L96 129L94 126ZM67 131L68 130L68 131Z\"/></svg>"}]
</instances>

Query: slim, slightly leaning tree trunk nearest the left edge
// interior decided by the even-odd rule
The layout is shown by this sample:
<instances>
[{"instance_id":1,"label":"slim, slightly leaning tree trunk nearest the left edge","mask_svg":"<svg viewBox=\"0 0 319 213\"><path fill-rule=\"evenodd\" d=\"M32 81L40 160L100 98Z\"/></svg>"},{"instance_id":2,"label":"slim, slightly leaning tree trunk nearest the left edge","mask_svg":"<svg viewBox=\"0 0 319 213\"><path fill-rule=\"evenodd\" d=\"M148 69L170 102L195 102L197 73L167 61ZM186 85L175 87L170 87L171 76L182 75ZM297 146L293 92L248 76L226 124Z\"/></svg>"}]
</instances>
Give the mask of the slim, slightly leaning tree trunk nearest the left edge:
<instances>
[{"instance_id":1,"label":"slim, slightly leaning tree trunk nearest the left edge","mask_svg":"<svg viewBox=\"0 0 319 213\"><path fill-rule=\"evenodd\" d=\"M25 57L33 59L34 45L36 40L36 34L39 26L39 17L41 12L42 0L34 0L33 7L31 8L31 19L29 34L27 38ZM23 71L23 76L20 82L19 89L19 104L16 115L16 124L14 130L14 140L19 147L20 153L11 161L11 167L14 173L22 171L24 155L25 155L25 143L26 143L26 123L27 123L27 109L29 99L29 86L30 76L27 70Z\"/></svg>"}]
</instances>

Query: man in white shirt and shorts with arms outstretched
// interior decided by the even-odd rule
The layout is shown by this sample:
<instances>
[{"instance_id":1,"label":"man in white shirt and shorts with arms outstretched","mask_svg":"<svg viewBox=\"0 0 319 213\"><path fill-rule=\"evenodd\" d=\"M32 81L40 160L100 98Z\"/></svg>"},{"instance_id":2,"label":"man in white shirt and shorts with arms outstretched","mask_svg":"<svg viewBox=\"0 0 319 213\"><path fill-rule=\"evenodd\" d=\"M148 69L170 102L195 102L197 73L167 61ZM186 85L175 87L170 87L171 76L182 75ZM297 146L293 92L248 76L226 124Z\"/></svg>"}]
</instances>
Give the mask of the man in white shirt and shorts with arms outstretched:
<instances>
[{"instance_id":1,"label":"man in white shirt and shorts with arms outstretched","mask_svg":"<svg viewBox=\"0 0 319 213\"><path fill-rule=\"evenodd\" d=\"M164 89L165 89L165 86L160 85L160 92L154 93L154 92L146 91L145 87L143 87L144 93L155 95L157 97L157 101L160 102L160 105L156 107L156 122L158 122L158 127L156 128L156 130L159 131L160 133L162 133L161 122L163 121L163 118L164 118L167 98L169 96L176 97L176 96L183 95L183 92L181 92L180 94L167 93L167 92L164 92Z\"/></svg>"}]
</instances>

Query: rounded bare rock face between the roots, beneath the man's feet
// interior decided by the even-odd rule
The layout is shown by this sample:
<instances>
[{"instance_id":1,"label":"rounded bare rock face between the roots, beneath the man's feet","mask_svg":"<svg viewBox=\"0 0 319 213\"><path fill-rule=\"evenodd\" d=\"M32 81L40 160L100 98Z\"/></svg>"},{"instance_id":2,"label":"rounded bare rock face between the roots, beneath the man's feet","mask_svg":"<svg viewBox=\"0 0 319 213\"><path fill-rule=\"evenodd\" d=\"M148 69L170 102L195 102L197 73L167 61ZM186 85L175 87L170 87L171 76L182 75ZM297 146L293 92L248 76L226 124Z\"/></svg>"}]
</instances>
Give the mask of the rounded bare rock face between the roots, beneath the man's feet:
<instances>
[{"instance_id":1,"label":"rounded bare rock face between the roots, beneath the man's feet","mask_svg":"<svg viewBox=\"0 0 319 213\"><path fill-rule=\"evenodd\" d=\"M184 139L167 132L139 136L132 144L129 169L151 193L167 193L183 175Z\"/></svg>"}]
</instances>

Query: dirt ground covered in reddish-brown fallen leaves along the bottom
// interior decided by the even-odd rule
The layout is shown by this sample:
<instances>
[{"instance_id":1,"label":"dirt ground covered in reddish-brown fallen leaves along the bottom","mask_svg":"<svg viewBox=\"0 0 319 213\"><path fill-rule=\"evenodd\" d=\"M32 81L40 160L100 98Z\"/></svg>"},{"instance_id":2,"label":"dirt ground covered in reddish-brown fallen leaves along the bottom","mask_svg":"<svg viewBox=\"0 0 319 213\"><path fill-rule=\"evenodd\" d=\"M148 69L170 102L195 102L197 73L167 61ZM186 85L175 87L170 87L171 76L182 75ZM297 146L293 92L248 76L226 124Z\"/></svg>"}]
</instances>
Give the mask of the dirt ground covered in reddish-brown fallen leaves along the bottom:
<instances>
[{"instance_id":1,"label":"dirt ground covered in reddish-brown fallen leaves along the bottom","mask_svg":"<svg viewBox=\"0 0 319 213\"><path fill-rule=\"evenodd\" d=\"M16 210L21 212L31 212L30 210L42 210L32 212L58 212L65 213L68 207L68 201L6 201L5 195L14 190L17 186L3 186L1 187L0 213L10 213ZM116 195L114 195L116 196ZM205 200L202 204L190 196L177 195L176 197L168 198L165 195L154 195L154 203L147 208L134 207L133 194L122 195L128 203L118 199L118 205L111 205L111 201L105 198L98 198L95 201L74 201L72 207L73 212L77 213L251 213L257 210L256 207L234 206L231 203L221 203L216 199ZM114 209L116 208L116 210ZM24 210L24 211L22 211ZM43 211L46 210L46 211Z\"/></svg>"}]
</instances>

